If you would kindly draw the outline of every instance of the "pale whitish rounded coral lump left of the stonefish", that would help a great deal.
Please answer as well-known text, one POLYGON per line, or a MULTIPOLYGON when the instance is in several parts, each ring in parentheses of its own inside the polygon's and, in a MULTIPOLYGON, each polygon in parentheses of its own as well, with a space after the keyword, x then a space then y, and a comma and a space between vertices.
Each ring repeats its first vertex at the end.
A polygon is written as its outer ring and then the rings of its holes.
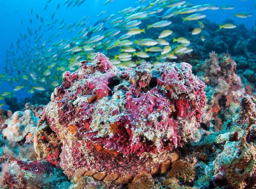
POLYGON ((36 133, 38 119, 31 110, 14 112, 12 117, 4 122, 7 127, 2 133, 9 142, 16 143, 26 139, 26 143, 31 143, 32 136, 36 133))

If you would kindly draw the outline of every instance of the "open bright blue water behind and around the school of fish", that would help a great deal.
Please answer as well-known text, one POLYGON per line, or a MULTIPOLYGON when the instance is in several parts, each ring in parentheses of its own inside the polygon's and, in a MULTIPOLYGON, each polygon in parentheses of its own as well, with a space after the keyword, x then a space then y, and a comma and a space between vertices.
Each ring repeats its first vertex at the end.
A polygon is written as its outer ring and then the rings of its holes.
MULTIPOLYGON (((137 0, 136 0, 137 1, 137 0)), ((38 35, 43 34, 43 38, 48 38, 52 35, 52 33, 55 33, 55 35, 60 31, 58 29, 60 20, 64 19, 65 23, 68 25, 69 23, 73 23, 77 20, 81 20, 86 15, 89 15, 88 21, 90 24, 88 25, 94 25, 99 18, 106 17, 112 13, 117 14, 118 11, 123 10, 127 7, 136 7, 139 5, 145 5, 148 4, 149 1, 143 2, 143 3, 136 3, 134 0, 114 0, 113 2, 102 5, 105 0, 86 0, 84 4, 82 4, 80 7, 74 7, 74 8, 68 8, 66 9, 66 5, 64 0, 52 0, 48 4, 48 8, 46 10, 44 9, 44 6, 47 2, 47 0, 40 0, 40 1, 31 1, 31 0, 12 0, 12 1, 1 1, 0 3, 0 18, 1 18, 1 31, 0 31, 0 73, 4 72, 3 67, 5 66, 6 61, 6 51, 9 49, 10 44, 13 42, 14 47, 16 46, 16 41, 20 35, 20 33, 24 34, 27 33, 27 27, 34 30, 37 29, 39 25, 42 25, 40 22, 40 18, 44 18, 44 26, 42 26, 42 29, 40 32, 38 32, 38 35), (60 4, 60 8, 56 11, 57 5, 60 4), (32 14, 31 9, 33 9, 32 14), (99 14, 101 11, 106 10, 107 13, 104 14, 101 17, 97 17, 96 15, 99 14), (51 15, 53 12, 55 12, 54 19, 58 18, 58 22, 55 24, 57 27, 52 28, 50 31, 47 30, 48 27, 46 27, 47 21, 51 20, 51 15), (36 14, 39 15, 39 20, 36 20, 36 14), (29 22, 32 18, 32 24, 29 22), (21 20, 23 23, 21 24, 21 20)), ((216 22, 216 24, 224 24, 225 20, 232 19, 236 25, 244 24, 245 27, 249 30, 252 30, 253 27, 255 27, 256 24, 256 8, 255 0, 247 0, 247 1, 240 1, 240 0, 191 0, 191 2, 194 2, 195 5, 199 4, 215 4, 215 5, 224 5, 229 4, 235 6, 235 9, 233 10, 206 10, 203 13, 207 15, 206 19, 210 20, 211 22, 216 22), (252 17, 241 19, 233 16, 233 13, 239 13, 239 12, 251 12, 254 15, 252 17)), ((162 12, 161 14, 163 14, 162 12)), ((170 18, 169 20, 172 20, 170 18)), ((182 23, 181 23, 182 24, 182 23)), ((111 28, 110 28, 111 29, 111 28)), ((52 43, 55 41, 58 41, 62 38, 69 38, 72 39, 74 36, 76 36, 76 32, 79 30, 76 30, 75 32, 68 33, 66 30, 63 30, 62 35, 58 38, 52 39, 52 43)), ((22 42, 20 43, 22 46, 22 42)), ((31 46, 34 44, 31 42, 31 46)), ((13 58, 13 57, 12 57, 13 58)), ((12 66, 13 63, 9 63, 7 66, 12 66)), ((16 64, 21 64, 21 62, 17 62, 16 64)), ((22 66, 22 65, 21 65, 22 66)), ((29 75, 29 73, 28 73, 29 75)), ((12 75, 8 75, 11 76, 12 75)), ((16 86, 16 83, 13 85, 10 85, 7 82, 2 82, 1 90, 0 92, 3 93, 4 91, 13 91, 13 88, 16 86)), ((18 83, 17 83, 18 84, 18 83)), ((15 97, 19 99, 25 98, 28 96, 31 96, 31 94, 28 94, 25 91, 15 91, 15 97)), ((3 103, 4 100, 1 100, 0 104, 3 103)), ((8 109, 8 107, 3 106, 4 109, 8 109)))

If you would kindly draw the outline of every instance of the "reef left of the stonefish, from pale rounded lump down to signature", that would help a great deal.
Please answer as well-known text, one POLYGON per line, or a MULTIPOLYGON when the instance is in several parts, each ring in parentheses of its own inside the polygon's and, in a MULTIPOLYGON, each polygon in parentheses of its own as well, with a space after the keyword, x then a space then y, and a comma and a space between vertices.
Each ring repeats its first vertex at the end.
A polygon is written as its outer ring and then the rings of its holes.
POLYGON ((24 112, 15 112, 5 121, 7 127, 0 135, 0 188, 69 187, 68 178, 60 168, 54 166, 54 157, 49 155, 52 159, 48 158, 48 162, 41 160, 34 150, 33 136, 36 133, 38 120, 39 118, 27 109, 24 112))

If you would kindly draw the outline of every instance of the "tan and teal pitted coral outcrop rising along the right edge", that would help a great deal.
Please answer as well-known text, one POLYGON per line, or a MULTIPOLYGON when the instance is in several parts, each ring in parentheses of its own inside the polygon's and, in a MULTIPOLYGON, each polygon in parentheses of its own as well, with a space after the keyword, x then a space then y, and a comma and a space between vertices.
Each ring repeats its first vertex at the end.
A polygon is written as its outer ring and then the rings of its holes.
POLYGON ((235 141, 226 141, 223 151, 213 161, 214 177, 227 180, 233 188, 255 188, 256 99, 244 96, 241 110, 233 121, 232 127, 241 124, 244 130, 235 141))

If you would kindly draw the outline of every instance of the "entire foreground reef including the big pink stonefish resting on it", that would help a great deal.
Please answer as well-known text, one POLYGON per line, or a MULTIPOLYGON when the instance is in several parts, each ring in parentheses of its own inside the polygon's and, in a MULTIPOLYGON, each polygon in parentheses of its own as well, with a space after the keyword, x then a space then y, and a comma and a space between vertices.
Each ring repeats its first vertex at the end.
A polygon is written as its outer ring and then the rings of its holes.
POLYGON ((3 111, 0 187, 254 189, 254 89, 226 53, 196 64, 206 96, 187 63, 81 62, 44 110, 3 111))

